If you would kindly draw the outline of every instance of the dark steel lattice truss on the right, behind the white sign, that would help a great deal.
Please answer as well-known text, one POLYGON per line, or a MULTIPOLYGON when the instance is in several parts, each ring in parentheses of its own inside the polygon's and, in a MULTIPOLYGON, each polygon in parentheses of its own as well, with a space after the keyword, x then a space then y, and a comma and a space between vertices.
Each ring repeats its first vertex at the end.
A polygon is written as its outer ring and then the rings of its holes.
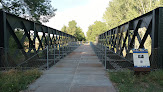
POLYGON ((163 68, 163 7, 108 30, 98 44, 132 61, 132 49, 148 49, 152 68, 163 68))

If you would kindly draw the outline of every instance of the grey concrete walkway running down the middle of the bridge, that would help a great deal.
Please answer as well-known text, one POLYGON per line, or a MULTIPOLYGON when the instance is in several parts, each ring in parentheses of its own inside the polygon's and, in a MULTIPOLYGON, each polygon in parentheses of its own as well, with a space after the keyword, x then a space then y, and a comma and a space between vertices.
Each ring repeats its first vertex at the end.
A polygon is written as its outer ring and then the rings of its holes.
POLYGON ((115 92, 89 45, 78 47, 29 86, 34 92, 115 92))

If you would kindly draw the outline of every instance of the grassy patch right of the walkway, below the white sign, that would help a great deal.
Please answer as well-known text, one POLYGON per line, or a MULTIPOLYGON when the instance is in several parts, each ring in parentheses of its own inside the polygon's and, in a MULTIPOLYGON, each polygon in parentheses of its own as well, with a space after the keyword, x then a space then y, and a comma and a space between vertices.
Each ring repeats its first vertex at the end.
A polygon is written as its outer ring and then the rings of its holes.
POLYGON ((163 92, 163 70, 139 76, 130 70, 109 72, 109 78, 119 92, 163 92))

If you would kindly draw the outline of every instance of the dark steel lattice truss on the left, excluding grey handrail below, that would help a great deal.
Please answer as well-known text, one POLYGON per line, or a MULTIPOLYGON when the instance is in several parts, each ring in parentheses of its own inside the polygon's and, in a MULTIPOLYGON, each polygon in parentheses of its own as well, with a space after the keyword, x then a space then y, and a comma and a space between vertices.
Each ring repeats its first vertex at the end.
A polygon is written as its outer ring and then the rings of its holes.
POLYGON ((0 11, 0 67, 18 66, 33 55, 43 56, 47 46, 58 51, 71 42, 76 42, 72 35, 0 11))

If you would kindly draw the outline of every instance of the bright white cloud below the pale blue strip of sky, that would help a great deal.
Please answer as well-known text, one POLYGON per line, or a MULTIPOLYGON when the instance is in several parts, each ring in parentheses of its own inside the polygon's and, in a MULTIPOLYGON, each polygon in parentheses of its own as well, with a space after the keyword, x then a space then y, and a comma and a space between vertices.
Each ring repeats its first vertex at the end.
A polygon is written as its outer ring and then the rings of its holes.
POLYGON ((89 25, 96 20, 102 21, 103 13, 106 10, 110 0, 89 0, 89 3, 76 8, 69 8, 62 12, 56 12, 56 16, 51 18, 45 25, 61 30, 63 25, 75 20, 77 25, 83 29, 86 34, 89 25))

